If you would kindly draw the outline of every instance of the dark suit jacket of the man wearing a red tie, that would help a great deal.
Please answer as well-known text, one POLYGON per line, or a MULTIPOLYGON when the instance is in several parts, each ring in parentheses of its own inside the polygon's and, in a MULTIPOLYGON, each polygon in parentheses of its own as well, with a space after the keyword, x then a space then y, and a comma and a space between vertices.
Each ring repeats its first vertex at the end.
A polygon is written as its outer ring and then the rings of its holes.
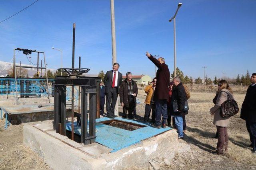
MULTIPOLYGON (((117 93, 119 92, 119 86, 122 83, 122 73, 118 71, 118 77, 117 77, 117 93)), ((113 70, 109 70, 106 72, 103 82, 105 84, 105 93, 110 92, 110 89, 112 88, 112 82, 113 82, 113 70)))

